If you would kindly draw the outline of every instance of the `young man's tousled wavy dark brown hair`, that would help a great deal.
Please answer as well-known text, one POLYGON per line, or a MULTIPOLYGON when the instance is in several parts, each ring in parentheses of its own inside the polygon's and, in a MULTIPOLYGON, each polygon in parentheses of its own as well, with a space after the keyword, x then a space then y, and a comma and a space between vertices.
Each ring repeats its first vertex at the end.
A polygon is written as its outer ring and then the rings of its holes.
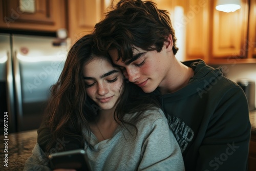
POLYGON ((134 46, 145 51, 160 52, 169 34, 173 38, 173 52, 177 53, 175 31, 166 10, 150 1, 121 0, 95 25, 98 49, 108 52, 117 49, 118 60, 133 57, 134 46))

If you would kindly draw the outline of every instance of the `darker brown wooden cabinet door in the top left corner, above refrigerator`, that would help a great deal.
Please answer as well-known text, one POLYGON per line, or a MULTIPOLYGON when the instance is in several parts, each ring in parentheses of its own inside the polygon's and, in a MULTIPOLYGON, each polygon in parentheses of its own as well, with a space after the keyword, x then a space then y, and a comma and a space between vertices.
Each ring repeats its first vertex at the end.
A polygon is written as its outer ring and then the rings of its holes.
POLYGON ((65 0, 0 0, 0 28, 55 32, 66 28, 65 0))

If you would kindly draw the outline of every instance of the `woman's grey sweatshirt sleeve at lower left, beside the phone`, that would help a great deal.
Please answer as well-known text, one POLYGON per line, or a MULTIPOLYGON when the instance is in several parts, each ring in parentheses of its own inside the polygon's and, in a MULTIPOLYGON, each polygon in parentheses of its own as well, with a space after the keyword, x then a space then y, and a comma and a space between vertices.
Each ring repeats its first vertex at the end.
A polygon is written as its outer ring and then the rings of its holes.
POLYGON ((42 152, 42 149, 39 147, 38 143, 36 143, 34 146, 32 155, 27 159, 24 166, 24 171, 32 170, 51 170, 49 168, 49 159, 45 156, 45 153, 42 152))

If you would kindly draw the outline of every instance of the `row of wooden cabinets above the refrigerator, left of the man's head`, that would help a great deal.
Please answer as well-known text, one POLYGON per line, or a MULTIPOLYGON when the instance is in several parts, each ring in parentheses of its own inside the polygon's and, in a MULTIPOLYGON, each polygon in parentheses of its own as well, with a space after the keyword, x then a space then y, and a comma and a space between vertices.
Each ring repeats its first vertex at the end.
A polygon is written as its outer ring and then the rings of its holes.
POLYGON ((56 32, 65 28, 73 44, 91 33, 111 3, 112 0, 0 0, 0 29, 56 32))

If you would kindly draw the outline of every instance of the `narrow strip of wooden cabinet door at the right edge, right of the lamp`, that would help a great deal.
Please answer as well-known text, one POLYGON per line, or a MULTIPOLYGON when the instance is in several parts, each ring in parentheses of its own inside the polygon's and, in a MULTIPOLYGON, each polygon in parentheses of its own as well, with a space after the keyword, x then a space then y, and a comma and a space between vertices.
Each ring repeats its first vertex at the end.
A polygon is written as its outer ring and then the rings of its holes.
POLYGON ((256 0, 250 1, 249 35, 248 35, 248 59, 256 59, 256 0))

